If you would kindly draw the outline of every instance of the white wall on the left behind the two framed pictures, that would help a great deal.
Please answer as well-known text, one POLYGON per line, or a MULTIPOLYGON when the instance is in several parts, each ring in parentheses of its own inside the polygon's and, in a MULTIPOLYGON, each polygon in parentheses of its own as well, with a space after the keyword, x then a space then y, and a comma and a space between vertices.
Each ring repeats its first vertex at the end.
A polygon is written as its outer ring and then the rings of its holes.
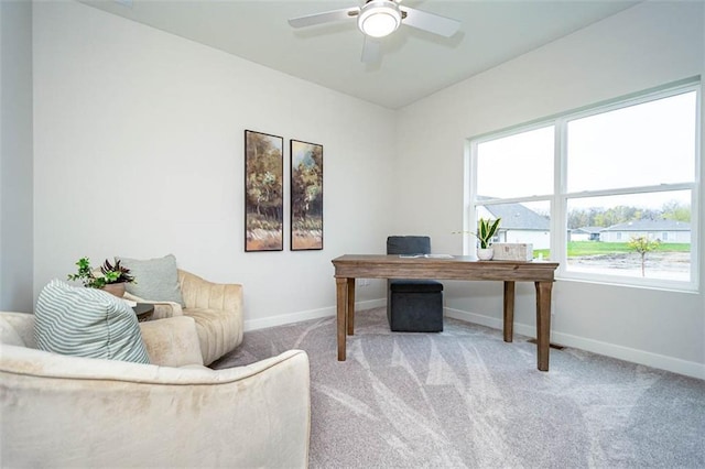
POLYGON ((263 327, 333 315, 330 260, 383 250, 392 111, 73 1, 34 6, 34 101, 35 295, 83 255, 173 253, 263 327), (323 144, 324 250, 245 252, 245 129, 285 139, 286 182, 289 139, 323 144))

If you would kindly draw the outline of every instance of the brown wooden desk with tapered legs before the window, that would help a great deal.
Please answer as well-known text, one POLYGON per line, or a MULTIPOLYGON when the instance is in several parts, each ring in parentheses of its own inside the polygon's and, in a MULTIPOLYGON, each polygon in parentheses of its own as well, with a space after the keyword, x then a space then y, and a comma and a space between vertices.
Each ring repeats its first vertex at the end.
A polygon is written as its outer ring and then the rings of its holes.
POLYGON ((549 371, 551 288, 556 262, 476 261, 400 258, 399 255, 341 255, 333 260, 337 295, 338 361, 346 358, 346 336, 355 331, 355 279, 438 279, 505 282, 505 341, 513 339, 514 282, 536 287, 538 368, 549 371))

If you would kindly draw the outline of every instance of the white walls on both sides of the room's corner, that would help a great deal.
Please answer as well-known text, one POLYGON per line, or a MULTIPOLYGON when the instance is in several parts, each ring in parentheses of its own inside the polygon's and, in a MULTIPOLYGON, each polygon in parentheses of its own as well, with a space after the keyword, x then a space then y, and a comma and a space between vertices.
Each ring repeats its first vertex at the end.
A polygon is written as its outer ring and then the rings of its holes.
MULTIPOLYGON (((37 2, 34 294, 82 255, 173 252, 243 283, 249 327, 333 314, 338 254, 383 252, 390 233, 462 250, 466 139, 702 74, 704 20, 702 3, 640 4, 392 113, 84 4, 37 2), (243 129, 324 145, 324 251, 243 252, 243 129)), ((531 332, 533 302, 520 285, 517 331, 531 332)), ((448 283, 446 306, 499 327, 501 285, 448 283)), ((705 377, 704 308, 703 294, 558 281, 553 339, 705 377)))

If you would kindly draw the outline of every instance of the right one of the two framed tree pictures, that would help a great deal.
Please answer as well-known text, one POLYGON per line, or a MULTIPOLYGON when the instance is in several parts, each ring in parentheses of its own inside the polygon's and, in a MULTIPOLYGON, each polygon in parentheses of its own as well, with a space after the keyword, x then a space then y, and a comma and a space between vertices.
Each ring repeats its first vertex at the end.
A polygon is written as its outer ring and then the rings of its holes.
POLYGON ((291 250, 323 249, 323 145, 290 143, 291 250))

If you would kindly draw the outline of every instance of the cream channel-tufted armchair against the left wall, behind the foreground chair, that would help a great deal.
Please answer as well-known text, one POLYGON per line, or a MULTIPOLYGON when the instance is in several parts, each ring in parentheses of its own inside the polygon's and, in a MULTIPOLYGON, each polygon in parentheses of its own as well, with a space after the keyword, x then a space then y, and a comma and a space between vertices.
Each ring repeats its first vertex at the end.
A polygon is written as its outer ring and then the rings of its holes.
POLYGON ((129 293, 124 297, 154 304, 154 319, 182 315, 193 317, 206 364, 235 350, 242 342, 242 285, 208 282, 181 269, 178 285, 185 308, 177 303, 140 298, 129 293))

